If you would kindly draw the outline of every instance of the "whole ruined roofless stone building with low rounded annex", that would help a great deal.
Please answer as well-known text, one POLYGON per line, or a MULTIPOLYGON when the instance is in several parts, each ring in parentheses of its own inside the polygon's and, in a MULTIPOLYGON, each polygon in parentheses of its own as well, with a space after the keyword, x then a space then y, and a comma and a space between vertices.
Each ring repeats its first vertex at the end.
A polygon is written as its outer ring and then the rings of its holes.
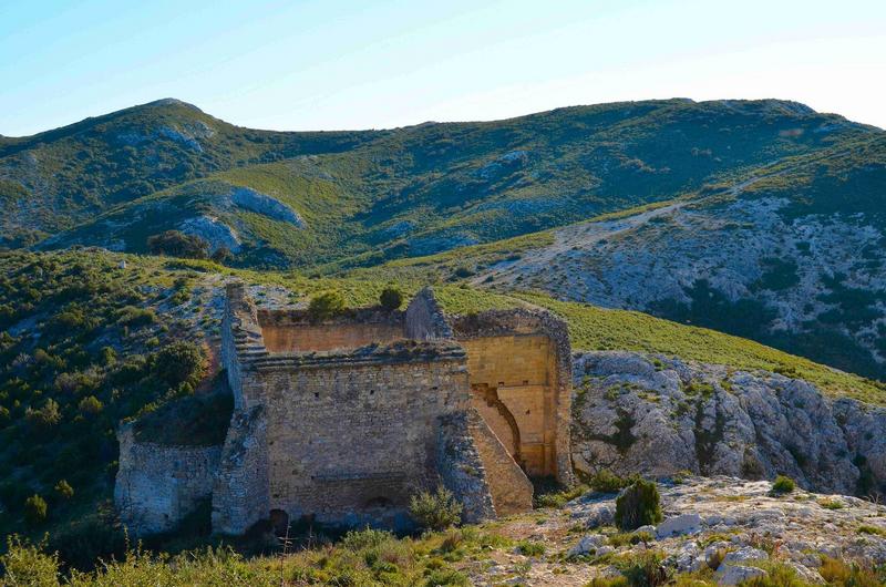
POLYGON ((440 484, 476 522, 529 509, 529 476, 571 481, 569 342, 547 312, 447 316, 424 289, 405 311, 318 323, 257 309, 235 284, 222 339, 235 404, 223 445, 120 431, 115 501, 136 533, 205 500, 225 534, 301 516, 404 527, 410 497, 440 484))

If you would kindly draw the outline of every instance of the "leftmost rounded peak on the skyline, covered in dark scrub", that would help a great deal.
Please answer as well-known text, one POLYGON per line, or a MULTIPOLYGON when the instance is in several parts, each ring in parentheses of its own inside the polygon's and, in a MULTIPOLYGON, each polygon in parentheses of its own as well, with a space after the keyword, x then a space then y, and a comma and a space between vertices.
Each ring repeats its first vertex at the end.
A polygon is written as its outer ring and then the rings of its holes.
POLYGON ((374 134, 253 131, 167 99, 33 136, 2 137, 2 241, 33 244, 114 205, 216 171, 342 151, 374 134))

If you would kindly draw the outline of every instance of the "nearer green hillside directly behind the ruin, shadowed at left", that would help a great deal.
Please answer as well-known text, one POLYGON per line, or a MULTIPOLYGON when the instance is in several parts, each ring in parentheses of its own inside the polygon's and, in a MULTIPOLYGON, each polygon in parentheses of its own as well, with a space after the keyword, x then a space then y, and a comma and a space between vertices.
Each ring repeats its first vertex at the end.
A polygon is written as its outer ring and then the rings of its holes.
MULTIPOLYGON (((224 430, 230 406, 212 392, 226 279, 270 288, 267 297, 259 297, 268 305, 305 303, 318 291, 337 288, 349 305, 365 306, 375 302, 385 285, 97 249, 10 253, 0 256, 0 534, 29 528, 37 537, 51 529, 53 547, 82 564, 96 553, 123 547, 110 506, 114 431, 121 419, 177 406, 162 412, 163 422, 179 416, 188 421, 190 442, 224 430), (183 340, 190 343, 184 351, 174 346, 183 340), (177 350, 171 353, 171 347, 177 350), (187 349, 200 347, 208 363, 194 362, 188 354, 187 349), (169 364, 179 368, 171 370, 169 364), (202 403, 181 403, 183 398, 202 403), (59 493, 62 480, 72 496, 59 493), (22 507, 33 494, 48 500, 49 521, 25 526, 22 507)), ((412 294, 422 285, 404 281, 403 289, 412 294)), ((526 303, 547 307, 568 321, 576 350, 626 349, 779 371, 806 379, 831 397, 886 405, 879 383, 711 330, 544 296, 460 286, 440 286, 437 296, 452 313, 526 303)))

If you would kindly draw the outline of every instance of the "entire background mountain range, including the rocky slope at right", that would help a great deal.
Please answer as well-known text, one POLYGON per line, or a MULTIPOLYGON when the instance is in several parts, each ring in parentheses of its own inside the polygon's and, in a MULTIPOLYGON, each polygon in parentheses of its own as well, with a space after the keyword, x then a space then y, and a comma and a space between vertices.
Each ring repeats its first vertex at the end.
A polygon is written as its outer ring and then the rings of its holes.
POLYGON ((544 291, 886 379, 886 133, 795 102, 275 133, 165 100, 3 138, 0 195, 8 246, 176 229, 235 267, 544 291))

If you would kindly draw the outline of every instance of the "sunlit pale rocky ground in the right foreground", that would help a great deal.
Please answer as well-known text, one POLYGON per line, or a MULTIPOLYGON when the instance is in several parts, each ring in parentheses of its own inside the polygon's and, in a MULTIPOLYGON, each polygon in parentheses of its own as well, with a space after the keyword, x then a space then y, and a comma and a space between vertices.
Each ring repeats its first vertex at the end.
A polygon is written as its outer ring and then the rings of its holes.
POLYGON ((657 527, 618 532, 611 525, 616 495, 589 493, 562 508, 536 509, 492 526, 517 546, 492 549, 465 563, 464 570, 476 585, 586 585, 594 577, 617 576, 627 558, 658 553, 667 573, 696 571, 720 585, 776 565, 821 584, 823 556, 886 563, 882 505, 802 490, 776 494, 766 481, 679 481, 659 484, 664 519, 657 527))

